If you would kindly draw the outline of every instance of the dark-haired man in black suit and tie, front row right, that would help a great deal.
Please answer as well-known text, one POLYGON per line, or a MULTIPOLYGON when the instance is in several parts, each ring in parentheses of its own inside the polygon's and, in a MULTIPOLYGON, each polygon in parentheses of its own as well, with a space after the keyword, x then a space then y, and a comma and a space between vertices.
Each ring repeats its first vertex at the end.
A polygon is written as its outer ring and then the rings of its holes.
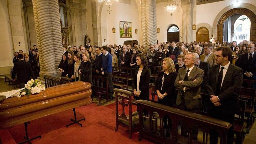
MULTIPOLYGON (((230 47, 216 49, 216 63, 210 68, 205 88, 211 96, 209 114, 229 123, 233 123, 235 113, 240 111, 238 93, 243 83, 243 70, 230 63, 232 51, 230 47)), ((232 144, 234 127, 227 132, 227 143, 232 144)), ((210 131, 210 143, 218 143, 218 132, 210 131)))

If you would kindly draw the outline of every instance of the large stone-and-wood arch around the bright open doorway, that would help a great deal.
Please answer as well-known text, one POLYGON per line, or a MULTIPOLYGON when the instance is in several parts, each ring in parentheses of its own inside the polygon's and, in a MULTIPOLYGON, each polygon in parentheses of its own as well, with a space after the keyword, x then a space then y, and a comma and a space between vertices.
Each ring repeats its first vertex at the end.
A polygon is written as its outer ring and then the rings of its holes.
MULTIPOLYGON (((232 5, 229 5, 227 7, 225 7, 223 10, 221 10, 218 15, 215 17, 214 19, 214 23, 213 23, 213 36, 214 38, 217 38, 218 40, 218 37, 222 37, 222 35, 219 35, 217 37, 217 29, 218 29, 218 23, 221 19, 225 19, 227 18, 227 15, 234 15, 234 14, 237 14, 237 13, 244 13, 246 16, 248 16, 249 18, 250 17, 253 17, 253 15, 255 16, 256 15, 256 7, 250 3, 241 3, 240 5, 238 6, 234 6, 233 4, 232 5), (230 11, 232 10, 232 11, 230 11), (247 10, 247 12, 246 12, 247 10), (237 12, 238 11, 238 12, 237 12), (240 11, 240 12, 239 12, 240 11), (248 15, 248 12, 250 12, 248 15)), ((256 33, 256 28, 254 29, 252 26, 253 24, 256 26, 256 22, 255 22, 255 19, 250 19, 251 20, 251 32, 255 32, 256 33)), ((223 22, 224 22, 223 21, 223 22)), ((223 23, 222 23, 223 24, 223 23)), ((220 30, 219 30, 220 31, 220 30)), ((254 35, 251 35, 250 36, 250 40, 256 40, 256 34, 254 35)), ((221 40, 219 40, 222 42, 222 38, 221 40)))

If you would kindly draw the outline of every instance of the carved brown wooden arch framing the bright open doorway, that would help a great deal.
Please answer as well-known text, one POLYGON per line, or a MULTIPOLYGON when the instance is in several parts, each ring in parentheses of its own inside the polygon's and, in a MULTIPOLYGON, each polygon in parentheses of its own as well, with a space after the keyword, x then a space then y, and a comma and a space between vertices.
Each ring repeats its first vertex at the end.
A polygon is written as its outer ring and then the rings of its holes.
POLYGON ((217 41, 222 43, 223 40, 223 24, 225 20, 235 14, 243 14, 246 15, 251 21, 251 29, 250 29, 250 41, 256 41, 256 15, 246 8, 233 8, 224 13, 217 25, 217 41))

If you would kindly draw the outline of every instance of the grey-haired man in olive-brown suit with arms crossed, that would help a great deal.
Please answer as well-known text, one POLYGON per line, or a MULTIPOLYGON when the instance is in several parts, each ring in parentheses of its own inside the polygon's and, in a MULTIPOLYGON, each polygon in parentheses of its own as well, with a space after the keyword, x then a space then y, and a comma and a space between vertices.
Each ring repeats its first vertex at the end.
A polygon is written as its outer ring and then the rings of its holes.
MULTIPOLYGON (((176 104, 179 109, 199 113, 202 107, 202 98, 200 95, 201 83, 204 77, 204 71, 196 67, 196 56, 194 53, 187 53, 184 64, 178 71, 175 80, 175 87, 179 89, 176 104)), ((186 124, 181 123, 181 135, 188 136, 186 124)), ((191 138, 197 140, 198 126, 192 128, 191 138)))

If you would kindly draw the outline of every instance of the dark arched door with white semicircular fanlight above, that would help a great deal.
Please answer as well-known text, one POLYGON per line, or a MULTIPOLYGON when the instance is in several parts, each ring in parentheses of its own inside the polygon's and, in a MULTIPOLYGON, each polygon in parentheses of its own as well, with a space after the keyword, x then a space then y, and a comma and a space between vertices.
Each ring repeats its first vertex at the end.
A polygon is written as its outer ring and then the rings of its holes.
POLYGON ((179 42, 179 28, 177 25, 172 24, 167 29, 167 41, 172 42, 179 42))

